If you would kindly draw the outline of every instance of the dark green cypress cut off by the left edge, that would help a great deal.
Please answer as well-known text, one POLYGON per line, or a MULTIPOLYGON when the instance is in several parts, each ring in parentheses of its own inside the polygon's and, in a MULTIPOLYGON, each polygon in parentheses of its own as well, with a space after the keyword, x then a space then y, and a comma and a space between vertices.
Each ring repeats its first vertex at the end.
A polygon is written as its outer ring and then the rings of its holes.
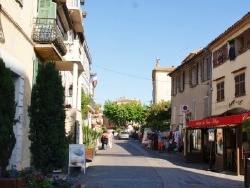
POLYGON ((15 118, 15 86, 10 69, 0 58, 0 168, 6 173, 16 138, 13 132, 15 118))

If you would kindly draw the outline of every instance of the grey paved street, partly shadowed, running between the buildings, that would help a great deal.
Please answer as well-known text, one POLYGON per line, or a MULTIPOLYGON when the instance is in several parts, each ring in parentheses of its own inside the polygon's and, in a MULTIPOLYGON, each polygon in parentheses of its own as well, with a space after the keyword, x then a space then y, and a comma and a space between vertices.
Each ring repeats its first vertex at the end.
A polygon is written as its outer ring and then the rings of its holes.
POLYGON ((99 150, 79 181, 86 188, 240 188, 244 177, 204 170, 177 154, 159 154, 137 140, 99 150))

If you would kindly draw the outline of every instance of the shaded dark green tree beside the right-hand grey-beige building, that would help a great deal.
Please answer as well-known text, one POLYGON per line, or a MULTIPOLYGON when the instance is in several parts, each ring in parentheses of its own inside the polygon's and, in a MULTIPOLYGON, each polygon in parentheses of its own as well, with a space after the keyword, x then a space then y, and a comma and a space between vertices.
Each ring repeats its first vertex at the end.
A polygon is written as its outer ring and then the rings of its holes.
POLYGON ((171 103, 170 101, 161 101, 152 104, 147 110, 145 127, 155 130, 166 130, 170 126, 171 103))

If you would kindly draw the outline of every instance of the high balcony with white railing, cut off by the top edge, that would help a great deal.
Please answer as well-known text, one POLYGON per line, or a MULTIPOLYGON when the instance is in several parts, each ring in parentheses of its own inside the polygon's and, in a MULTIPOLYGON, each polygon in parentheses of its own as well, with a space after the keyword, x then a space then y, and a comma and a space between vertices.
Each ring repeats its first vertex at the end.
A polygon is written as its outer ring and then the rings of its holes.
POLYGON ((84 4, 82 0, 67 0, 67 7, 69 9, 70 18, 72 20, 73 29, 75 32, 83 33, 82 24, 82 10, 81 5, 84 4))

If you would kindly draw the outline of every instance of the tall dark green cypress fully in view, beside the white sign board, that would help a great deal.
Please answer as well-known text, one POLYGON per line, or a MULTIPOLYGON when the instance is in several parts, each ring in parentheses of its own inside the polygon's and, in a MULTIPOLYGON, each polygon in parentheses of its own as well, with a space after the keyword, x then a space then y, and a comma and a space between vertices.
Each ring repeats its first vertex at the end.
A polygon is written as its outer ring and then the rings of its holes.
POLYGON ((31 93, 29 139, 32 164, 44 174, 61 169, 67 160, 64 88, 53 62, 39 67, 31 93))

